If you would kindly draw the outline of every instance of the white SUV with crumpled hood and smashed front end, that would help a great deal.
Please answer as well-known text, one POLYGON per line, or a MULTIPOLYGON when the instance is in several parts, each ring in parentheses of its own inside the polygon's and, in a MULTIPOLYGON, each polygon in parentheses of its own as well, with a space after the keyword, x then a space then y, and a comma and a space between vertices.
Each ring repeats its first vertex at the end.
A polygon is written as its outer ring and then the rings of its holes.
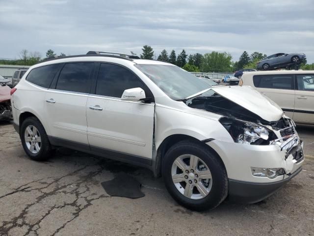
POLYGON ((291 119, 250 87, 209 86, 170 63, 110 55, 51 59, 11 90, 33 160, 63 146, 151 169, 183 206, 255 203, 302 169, 291 119))

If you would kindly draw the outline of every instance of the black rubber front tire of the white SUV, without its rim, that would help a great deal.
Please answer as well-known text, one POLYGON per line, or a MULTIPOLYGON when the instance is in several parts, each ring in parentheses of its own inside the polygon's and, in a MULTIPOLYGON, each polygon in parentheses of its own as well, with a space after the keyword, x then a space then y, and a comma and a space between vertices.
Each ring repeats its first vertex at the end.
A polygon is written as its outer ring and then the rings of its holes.
POLYGON ((204 211, 217 207, 228 195, 228 177, 221 159, 204 144, 192 141, 181 141, 169 148, 162 162, 162 176, 170 195, 183 207, 191 210, 204 211), (191 154, 199 157, 209 167, 212 176, 212 185, 209 194, 202 199, 185 197, 176 188, 171 169, 177 157, 191 154))

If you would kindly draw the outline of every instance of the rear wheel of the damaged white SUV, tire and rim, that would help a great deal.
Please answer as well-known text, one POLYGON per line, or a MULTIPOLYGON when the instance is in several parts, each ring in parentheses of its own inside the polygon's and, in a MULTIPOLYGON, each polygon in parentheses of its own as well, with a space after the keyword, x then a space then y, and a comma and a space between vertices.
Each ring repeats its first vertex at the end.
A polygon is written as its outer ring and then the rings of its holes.
POLYGON ((51 157, 51 144, 39 119, 26 118, 21 125, 20 137, 26 154, 32 160, 45 161, 51 157))

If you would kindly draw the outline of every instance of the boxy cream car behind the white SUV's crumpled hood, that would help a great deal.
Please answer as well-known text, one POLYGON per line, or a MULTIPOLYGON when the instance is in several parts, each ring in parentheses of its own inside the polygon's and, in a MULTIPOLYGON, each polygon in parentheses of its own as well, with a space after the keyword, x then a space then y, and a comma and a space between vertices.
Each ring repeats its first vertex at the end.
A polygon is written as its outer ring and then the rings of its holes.
POLYGON ((277 103, 296 123, 314 124, 314 71, 257 71, 243 74, 248 85, 277 103))

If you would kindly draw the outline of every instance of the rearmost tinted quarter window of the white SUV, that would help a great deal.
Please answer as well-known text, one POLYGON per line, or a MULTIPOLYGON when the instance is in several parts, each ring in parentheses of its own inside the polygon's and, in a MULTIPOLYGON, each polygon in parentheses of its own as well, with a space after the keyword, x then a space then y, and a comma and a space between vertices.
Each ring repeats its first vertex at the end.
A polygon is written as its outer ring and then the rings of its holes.
POLYGON ((26 80, 43 88, 49 88, 55 74, 62 64, 45 65, 32 69, 26 80))

